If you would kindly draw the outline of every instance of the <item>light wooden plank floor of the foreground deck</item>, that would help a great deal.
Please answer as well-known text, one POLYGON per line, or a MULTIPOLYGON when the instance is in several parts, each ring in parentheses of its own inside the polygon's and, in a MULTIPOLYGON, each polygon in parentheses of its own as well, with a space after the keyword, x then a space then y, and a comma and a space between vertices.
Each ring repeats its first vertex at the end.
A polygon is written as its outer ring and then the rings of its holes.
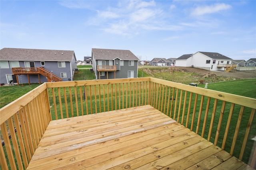
POLYGON ((30 169, 253 169, 152 106, 51 121, 30 169))

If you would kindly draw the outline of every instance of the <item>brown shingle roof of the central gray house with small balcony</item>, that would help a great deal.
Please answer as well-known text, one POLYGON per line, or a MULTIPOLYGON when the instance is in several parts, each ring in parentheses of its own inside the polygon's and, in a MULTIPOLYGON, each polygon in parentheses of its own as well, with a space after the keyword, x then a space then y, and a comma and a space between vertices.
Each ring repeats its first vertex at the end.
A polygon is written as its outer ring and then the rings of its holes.
POLYGON ((92 54, 96 60, 139 60, 130 50, 92 49, 92 54))

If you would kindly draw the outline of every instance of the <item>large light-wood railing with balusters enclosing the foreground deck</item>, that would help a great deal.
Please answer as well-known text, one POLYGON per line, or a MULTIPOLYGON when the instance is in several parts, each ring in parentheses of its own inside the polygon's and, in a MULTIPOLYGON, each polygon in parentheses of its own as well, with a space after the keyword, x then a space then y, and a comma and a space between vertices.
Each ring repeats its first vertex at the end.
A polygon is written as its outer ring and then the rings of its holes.
POLYGON ((148 104, 255 167, 256 99, 129 78, 48 82, 0 109, 1 168, 26 168, 50 120, 148 104))

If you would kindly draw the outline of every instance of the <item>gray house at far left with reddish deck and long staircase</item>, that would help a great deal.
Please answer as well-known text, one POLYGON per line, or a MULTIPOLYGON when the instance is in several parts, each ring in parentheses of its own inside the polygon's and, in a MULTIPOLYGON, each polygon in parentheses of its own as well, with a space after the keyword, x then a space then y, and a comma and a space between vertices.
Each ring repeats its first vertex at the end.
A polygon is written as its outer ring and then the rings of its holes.
POLYGON ((3 48, 0 55, 1 84, 72 81, 76 70, 74 51, 3 48))

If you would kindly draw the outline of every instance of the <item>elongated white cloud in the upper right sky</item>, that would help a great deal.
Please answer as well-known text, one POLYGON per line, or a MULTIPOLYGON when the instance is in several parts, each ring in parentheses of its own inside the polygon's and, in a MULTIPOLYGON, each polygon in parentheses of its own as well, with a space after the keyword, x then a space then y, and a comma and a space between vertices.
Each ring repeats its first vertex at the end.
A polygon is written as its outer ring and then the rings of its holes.
POLYGON ((198 6, 197 8, 195 8, 191 15, 192 16, 202 16, 204 14, 212 14, 212 13, 217 13, 223 10, 228 10, 232 8, 232 6, 228 5, 228 4, 214 4, 211 6, 198 6))

